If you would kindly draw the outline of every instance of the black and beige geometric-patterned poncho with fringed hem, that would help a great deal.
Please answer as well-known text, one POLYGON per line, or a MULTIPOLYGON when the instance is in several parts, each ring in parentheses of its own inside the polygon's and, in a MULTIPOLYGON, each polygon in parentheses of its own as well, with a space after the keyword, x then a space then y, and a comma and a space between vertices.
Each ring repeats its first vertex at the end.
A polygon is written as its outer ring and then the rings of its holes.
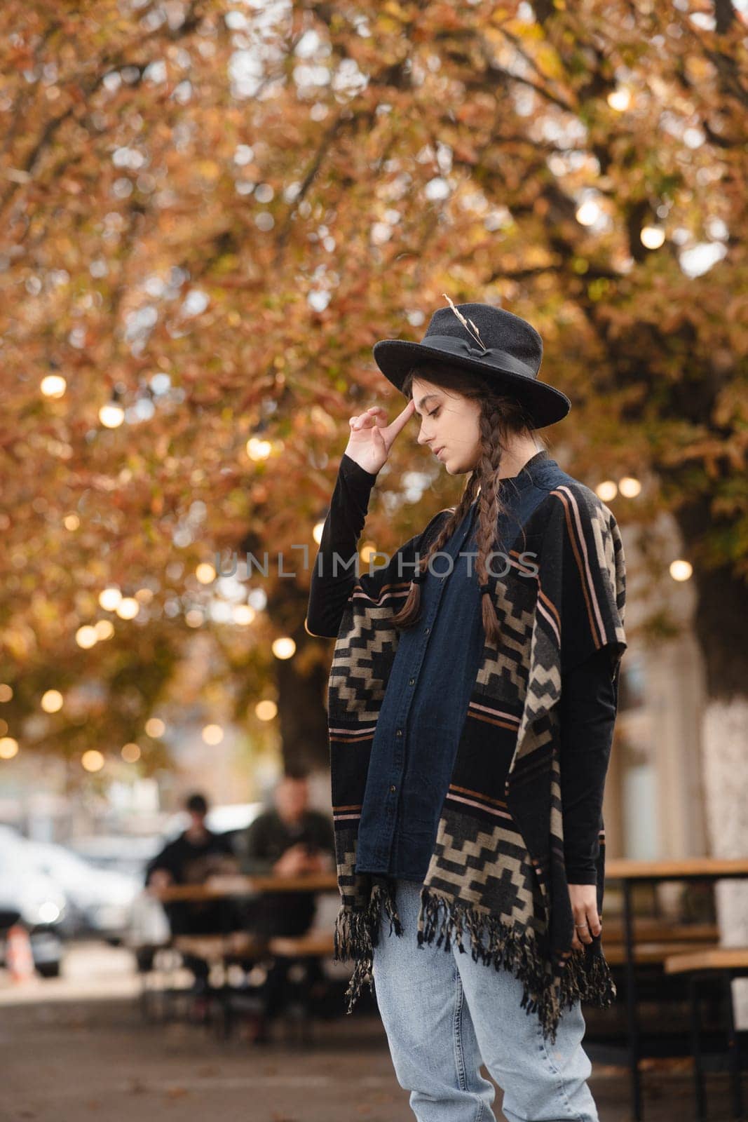
MULTIPOLYGON (((351 1012, 372 985, 372 947, 384 916, 401 935, 394 884, 357 873, 357 837, 377 718, 398 643, 391 617, 418 558, 450 511, 373 572, 357 576, 335 640, 327 719, 338 883, 335 959, 353 960, 351 1012)), ((626 650, 626 576, 618 524, 594 491, 564 473, 510 548, 489 564, 501 641, 484 641, 462 725, 428 871, 418 945, 468 940, 473 960, 510 971, 521 1005, 555 1040, 564 1006, 600 1006, 616 990, 600 938, 571 950, 574 919, 564 866, 558 699, 562 674, 600 647, 618 677, 626 650)), ((459 652, 455 652, 459 656, 459 652)), ((602 912, 604 833, 597 895, 602 912)))

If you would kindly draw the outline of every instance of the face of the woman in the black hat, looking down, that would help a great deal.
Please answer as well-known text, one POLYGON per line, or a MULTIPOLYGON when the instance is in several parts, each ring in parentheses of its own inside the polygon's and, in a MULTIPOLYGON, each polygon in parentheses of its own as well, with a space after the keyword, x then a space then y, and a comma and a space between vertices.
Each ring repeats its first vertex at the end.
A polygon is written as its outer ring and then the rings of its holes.
POLYGON ((410 389, 421 417, 418 443, 427 444, 451 476, 472 471, 480 452, 480 405, 455 390, 414 378, 410 389))

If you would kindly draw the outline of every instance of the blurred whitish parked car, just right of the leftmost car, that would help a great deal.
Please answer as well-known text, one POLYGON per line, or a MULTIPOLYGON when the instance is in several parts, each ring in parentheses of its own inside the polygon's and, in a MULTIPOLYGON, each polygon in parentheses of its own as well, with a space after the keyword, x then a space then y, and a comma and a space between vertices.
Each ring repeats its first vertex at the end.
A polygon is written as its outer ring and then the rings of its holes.
POLYGON ((28 845, 31 859, 66 896, 70 932, 120 942, 130 923, 141 877, 98 868, 62 845, 43 842, 29 842, 28 845))

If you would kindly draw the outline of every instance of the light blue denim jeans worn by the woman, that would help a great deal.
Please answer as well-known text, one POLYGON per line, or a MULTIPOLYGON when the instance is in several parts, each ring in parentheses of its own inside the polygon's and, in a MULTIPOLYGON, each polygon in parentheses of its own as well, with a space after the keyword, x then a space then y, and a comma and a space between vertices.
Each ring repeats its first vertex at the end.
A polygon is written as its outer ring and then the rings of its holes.
POLYGON ((390 934, 382 913, 372 968, 395 1074, 418 1122, 496 1122, 481 1063, 504 1091, 508 1122, 598 1122, 580 1003, 563 1010, 555 1045, 545 1041, 504 967, 474 963, 454 944, 418 947, 421 888, 396 882, 403 934, 390 934))

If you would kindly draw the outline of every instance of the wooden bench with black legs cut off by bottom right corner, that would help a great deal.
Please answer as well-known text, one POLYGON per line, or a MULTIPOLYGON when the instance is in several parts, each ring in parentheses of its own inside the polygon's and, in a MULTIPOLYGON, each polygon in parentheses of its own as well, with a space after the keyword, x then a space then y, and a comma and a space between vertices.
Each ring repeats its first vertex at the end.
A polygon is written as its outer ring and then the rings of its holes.
POLYGON ((740 1086, 740 1047, 735 1027, 732 1009, 732 978, 748 975, 748 947, 711 947, 671 955, 665 960, 667 974, 683 974, 689 980, 691 999, 691 1041, 693 1046, 694 1087, 696 1095, 696 1113, 699 1122, 707 1118, 707 1100, 704 1094, 704 1067, 701 1050, 701 1024, 699 1010, 698 983, 718 975, 721 978, 727 1012, 728 1065, 730 1069, 730 1098, 732 1116, 742 1119, 742 1089, 740 1086))

